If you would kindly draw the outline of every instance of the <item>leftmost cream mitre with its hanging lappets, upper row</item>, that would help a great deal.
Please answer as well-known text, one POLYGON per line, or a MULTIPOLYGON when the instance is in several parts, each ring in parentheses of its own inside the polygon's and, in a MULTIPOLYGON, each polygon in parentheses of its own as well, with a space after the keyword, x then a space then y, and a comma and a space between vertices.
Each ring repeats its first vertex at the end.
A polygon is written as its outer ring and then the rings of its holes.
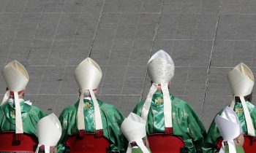
POLYGON ((4 99, 1 103, 4 104, 10 97, 10 93, 14 95, 15 101, 15 133, 17 134, 16 140, 20 140, 20 135, 23 133, 23 124, 21 119, 20 102, 18 98, 18 92, 24 90, 29 82, 29 74, 26 68, 17 60, 13 60, 4 66, 1 74, 4 81, 7 84, 8 91, 4 95, 4 99))

